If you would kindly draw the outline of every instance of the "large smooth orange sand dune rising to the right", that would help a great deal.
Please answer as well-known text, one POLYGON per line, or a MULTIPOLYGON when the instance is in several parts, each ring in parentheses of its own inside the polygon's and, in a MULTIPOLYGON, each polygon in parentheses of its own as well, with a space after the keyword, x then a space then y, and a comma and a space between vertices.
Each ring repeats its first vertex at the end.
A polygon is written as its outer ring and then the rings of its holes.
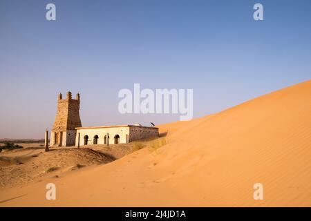
POLYGON ((156 151, 1 190, 0 206, 311 206, 311 81, 160 129, 156 151))

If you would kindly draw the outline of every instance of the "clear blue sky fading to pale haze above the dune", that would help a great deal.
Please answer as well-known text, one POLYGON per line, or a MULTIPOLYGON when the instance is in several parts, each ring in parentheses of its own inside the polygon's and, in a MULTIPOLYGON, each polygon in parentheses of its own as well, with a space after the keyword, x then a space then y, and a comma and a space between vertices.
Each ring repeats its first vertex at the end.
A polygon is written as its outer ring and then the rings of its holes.
POLYGON ((0 138, 44 137, 67 90, 81 94, 82 126, 161 124, 179 115, 121 115, 118 91, 193 88, 200 117, 311 79, 310 11, 309 0, 1 0, 0 138))

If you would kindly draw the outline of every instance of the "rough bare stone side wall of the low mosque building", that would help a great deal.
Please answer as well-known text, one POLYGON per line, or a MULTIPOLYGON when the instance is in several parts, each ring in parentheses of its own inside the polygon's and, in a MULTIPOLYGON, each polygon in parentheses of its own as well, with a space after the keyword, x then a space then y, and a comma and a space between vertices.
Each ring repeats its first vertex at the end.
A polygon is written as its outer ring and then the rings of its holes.
POLYGON ((129 142, 159 135, 159 128, 149 126, 130 126, 129 142))

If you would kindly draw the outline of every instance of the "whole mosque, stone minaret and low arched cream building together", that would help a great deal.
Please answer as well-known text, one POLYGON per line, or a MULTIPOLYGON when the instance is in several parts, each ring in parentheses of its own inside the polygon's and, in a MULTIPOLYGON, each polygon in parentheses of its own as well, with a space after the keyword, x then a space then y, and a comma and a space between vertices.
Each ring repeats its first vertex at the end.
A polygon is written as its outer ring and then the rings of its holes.
POLYGON ((82 127, 79 116, 80 95, 75 99, 68 91, 66 99, 59 93, 57 114, 50 135, 50 146, 80 146, 90 144, 127 144, 134 140, 159 135, 155 126, 122 124, 82 127))

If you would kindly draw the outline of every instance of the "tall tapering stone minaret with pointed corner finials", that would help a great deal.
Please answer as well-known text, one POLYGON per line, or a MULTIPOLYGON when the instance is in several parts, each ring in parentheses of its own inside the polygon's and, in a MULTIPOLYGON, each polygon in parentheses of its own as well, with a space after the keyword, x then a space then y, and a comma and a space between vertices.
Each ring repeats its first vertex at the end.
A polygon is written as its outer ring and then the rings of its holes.
POLYGON ((62 94, 58 95, 57 114, 50 134, 50 146, 75 146, 76 127, 80 127, 79 116, 80 95, 77 93, 72 99, 68 91, 66 99, 62 94))

